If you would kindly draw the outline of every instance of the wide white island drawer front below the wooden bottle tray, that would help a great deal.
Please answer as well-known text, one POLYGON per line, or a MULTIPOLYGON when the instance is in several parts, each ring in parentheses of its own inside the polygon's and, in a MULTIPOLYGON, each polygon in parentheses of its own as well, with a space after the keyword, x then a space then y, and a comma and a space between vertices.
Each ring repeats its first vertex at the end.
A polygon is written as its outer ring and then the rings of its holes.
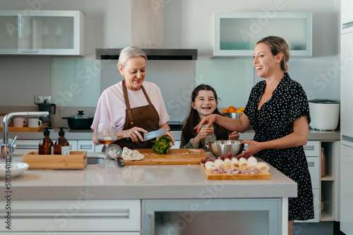
MULTIPOLYGON (((11 201, 11 231, 135 231, 141 230, 139 200, 90 200, 83 191, 78 200, 11 201)), ((0 201, 5 217, 6 201, 0 201)), ((1 231, 8 231, 5 226, 1 231)))

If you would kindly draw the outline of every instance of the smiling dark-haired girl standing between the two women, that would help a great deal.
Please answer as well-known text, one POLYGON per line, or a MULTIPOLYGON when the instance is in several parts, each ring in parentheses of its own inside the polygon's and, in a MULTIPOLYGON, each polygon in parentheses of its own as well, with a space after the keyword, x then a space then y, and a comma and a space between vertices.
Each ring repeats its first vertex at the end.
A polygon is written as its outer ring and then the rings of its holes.
POLYGON ((238 132, 229 131, 220 125, 214 124, 211 127, 204 125, 200 132, 196 127, 200 120, 210 114, 220 114, 217 108, 218 98, 215 89, 209 85, 201 84, 191 94, 191 108, 181 131, 180 148, 208 148, 210 141, 233 139, 238 140, 238 132))

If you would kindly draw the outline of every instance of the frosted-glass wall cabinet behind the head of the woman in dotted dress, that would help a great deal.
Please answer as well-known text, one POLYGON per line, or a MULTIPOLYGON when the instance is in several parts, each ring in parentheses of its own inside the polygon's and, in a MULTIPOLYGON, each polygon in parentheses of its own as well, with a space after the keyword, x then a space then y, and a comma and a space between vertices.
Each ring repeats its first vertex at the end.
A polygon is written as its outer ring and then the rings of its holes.
POLYGON ((312 55, 311 13, 213 13, 213 57, 253 56, 256 42, 267 36, 284 38, 291 56, 312 55))

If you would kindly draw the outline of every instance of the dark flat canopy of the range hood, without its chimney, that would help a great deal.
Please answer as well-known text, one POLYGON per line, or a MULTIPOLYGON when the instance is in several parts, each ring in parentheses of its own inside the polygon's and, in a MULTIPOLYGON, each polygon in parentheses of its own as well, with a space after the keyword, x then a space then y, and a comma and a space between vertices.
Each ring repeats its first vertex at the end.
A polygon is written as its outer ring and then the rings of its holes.
MULTIPOLYGON (((197 49, 142 49, 148 60, 196 61, 197 49)), ((97 60, 118 60, 121 49, 95 49, 97 60)))

